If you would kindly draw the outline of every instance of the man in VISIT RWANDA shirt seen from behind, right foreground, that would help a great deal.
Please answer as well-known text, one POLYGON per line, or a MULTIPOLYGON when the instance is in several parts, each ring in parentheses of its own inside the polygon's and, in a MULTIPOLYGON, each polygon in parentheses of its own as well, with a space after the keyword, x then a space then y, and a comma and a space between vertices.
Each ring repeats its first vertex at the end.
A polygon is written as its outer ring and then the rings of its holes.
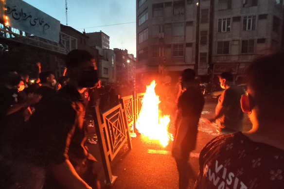
POLYGON ((199 156, 196 189, 282 189, 284 187, 284 52, 255 60, 246 71, 247 133, 221 135, 199 156))

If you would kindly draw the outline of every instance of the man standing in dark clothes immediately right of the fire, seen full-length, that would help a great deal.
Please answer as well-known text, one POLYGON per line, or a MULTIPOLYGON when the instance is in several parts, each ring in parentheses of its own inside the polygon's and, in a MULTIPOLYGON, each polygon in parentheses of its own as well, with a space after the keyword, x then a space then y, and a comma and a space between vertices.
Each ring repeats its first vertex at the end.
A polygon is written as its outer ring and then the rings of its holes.
POLYGON ((195 71, 185 69, 181 75, 181 87, 185 90, 178 98, 176 134, 172 155, 177 162, 179 189, 187 189, 189 180, 196 175, 189 164, 189 154, 195 149, 198 121, 204 106, 204 97, 195 83, 195 71))

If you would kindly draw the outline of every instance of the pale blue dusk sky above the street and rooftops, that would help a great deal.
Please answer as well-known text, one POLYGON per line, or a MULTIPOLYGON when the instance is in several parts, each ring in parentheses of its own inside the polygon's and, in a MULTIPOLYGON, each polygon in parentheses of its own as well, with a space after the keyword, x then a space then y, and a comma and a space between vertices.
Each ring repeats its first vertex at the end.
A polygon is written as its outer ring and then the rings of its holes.
MULTIPOLYGON (((66 25, 65 0, 24 1, 66 25)), ((110 49, 127 49, 136 57, 136 0, 67 0, 67 6, 68 26, 86 33, 101 30, 110 37, 110 49)))

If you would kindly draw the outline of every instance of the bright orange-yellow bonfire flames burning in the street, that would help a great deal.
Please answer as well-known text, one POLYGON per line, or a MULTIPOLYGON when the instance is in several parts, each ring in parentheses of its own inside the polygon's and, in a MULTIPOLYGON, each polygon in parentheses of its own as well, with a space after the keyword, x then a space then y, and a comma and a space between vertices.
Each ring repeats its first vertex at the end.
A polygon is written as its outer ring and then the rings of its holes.
POLYGON ((146 93, 142 99, 142 108, 137 119, 136 128, 144 137, 157 139, 165 147, 169 143, 167 126, 170 122, 169 116, 159 115, 159 96, 155 93, 155 80, 147 86, 146 93))

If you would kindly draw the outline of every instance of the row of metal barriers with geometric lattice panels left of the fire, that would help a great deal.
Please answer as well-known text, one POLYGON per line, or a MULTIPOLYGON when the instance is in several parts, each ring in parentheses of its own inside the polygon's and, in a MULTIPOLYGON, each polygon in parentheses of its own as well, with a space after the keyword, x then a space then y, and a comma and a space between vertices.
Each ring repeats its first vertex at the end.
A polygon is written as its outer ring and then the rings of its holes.
POLYGON ((99 107, 95 106, 96 112, 93 118, 98 123, 95 124, 95 128, 108 186, 111 186, 117 178, 111 173, 110 161, 114 159, 126 141, 129 150, 132 149, 129 127, 133 124, 135 129, 144 94, 134 92, 133 95, 123 97, 120 104, 102 115, 99 112, 99 107))

